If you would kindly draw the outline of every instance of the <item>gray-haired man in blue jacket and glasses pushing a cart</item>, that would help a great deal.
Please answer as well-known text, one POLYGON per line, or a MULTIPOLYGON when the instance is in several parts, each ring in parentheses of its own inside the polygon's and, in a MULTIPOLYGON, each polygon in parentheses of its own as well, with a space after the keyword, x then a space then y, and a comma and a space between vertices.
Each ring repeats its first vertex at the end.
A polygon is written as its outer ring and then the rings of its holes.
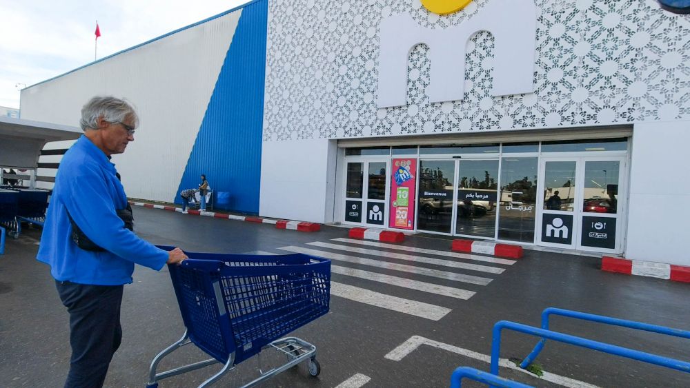
POLYGON ((72 357, 65 387, 102 387, 120 345, 123 286, 135 263, 159 270, 187 258, 142 240, 112 154, 134 141, 134 108, 110 96, 93 97, 81 109, 83 136, 65 153, 43 227, 37 259, 51 267, 70 314, 72 357))

